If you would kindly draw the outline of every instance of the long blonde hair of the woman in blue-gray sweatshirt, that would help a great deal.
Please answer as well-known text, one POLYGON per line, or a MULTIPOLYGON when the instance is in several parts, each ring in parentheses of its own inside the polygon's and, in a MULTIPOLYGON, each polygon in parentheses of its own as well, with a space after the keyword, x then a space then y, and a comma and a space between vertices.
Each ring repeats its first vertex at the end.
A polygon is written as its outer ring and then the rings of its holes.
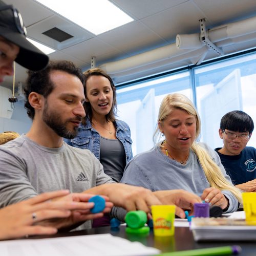
MULTIPOLYGON (((196 138, 191 145, 191 150, 197 155, 210 186, 219 188, 220 190, 231 191, 231 193, 236 196, 238 201, 242 203, 241 190, 234 187, 225 179, 219 166, 211 159, 210 155, 205 151, 205 149, 196 142, 200 135, 200 117, 193 103, 185 95, 179 93, 166 95, 160 105, 158 120, 161 122, 164 121, 174 109, 184 110, 196 118, 196 138)), ((161 132, 157 125, 157 129, 154 134, 155 143, 159 141, 160 136, 161 132)))

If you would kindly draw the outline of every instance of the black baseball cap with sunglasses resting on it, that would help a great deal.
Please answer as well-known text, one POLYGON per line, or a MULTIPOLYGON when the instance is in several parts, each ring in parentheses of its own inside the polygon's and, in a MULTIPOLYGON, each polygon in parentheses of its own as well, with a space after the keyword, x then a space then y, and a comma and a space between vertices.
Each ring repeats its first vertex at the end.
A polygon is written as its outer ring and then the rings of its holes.
POLYGON ((44 69, 49 57, 26 39, 26 27, 22 16, 12 5, 6 5, 0 0, 0 36, 19 47, 15 61, 29 70, 44 69))

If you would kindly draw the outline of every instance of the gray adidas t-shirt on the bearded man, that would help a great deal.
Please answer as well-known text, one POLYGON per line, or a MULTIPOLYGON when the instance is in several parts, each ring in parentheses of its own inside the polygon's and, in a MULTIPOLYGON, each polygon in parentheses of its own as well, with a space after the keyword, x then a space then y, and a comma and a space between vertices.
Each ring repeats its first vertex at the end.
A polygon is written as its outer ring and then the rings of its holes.
MULTIPOLYGON (((80 193, 111 182, 94 154, 65 142, 59 148, 49 148, 22 135, 0 146, 0 207, 47 191, 80 193)), ((90 221, 82 225, 90 227, 90 221)))

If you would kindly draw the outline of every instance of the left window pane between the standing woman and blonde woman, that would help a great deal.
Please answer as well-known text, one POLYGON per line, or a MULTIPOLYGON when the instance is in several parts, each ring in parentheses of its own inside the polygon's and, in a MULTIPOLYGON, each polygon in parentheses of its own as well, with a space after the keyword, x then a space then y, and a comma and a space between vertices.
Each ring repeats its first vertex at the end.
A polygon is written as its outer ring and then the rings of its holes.
POLYGON ((188 71, 117 88, 118 119, 130 126, 134 155, 154 146, 160 103, 166 94, 175 92, 192 98, 188 71))

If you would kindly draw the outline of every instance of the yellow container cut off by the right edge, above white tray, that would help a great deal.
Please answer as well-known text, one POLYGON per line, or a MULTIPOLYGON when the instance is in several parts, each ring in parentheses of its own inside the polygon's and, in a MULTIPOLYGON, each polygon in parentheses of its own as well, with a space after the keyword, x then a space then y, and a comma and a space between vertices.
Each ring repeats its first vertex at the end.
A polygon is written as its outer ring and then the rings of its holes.
POLYGON ((244 192, 242 193, 242 197, 245 220, 256 223, 256 192, 244 192))

